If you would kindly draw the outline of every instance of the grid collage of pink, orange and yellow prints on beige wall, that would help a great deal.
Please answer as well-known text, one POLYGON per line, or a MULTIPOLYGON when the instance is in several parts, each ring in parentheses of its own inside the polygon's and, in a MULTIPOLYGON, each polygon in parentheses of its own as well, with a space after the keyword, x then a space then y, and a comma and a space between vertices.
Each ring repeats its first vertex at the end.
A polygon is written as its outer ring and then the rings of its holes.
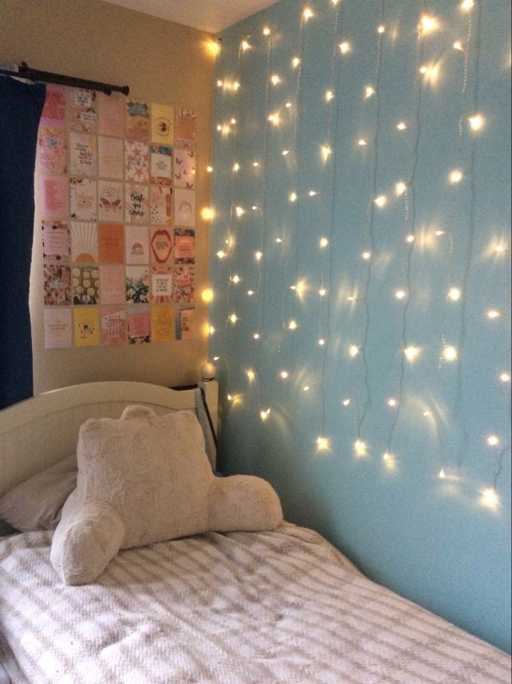
POLYGON ((49 85, 38 131, 45 348, 193 336, 195 140, 186 108, 49 85), (188 312, 188 313, 187 313, 188 312))

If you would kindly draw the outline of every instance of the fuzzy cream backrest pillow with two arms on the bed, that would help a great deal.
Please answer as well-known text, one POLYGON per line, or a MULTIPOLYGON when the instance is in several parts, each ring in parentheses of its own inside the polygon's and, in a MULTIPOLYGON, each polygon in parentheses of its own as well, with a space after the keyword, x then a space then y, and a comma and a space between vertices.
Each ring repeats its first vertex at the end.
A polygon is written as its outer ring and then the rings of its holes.
POLYGON ((67 585, 93 582, 120 548, 202 532, 272 530, 278 495, 249 475, 216 478, 196 416, 128 407, 79 432, 75 489, 63 507, 51 562, 67 585))

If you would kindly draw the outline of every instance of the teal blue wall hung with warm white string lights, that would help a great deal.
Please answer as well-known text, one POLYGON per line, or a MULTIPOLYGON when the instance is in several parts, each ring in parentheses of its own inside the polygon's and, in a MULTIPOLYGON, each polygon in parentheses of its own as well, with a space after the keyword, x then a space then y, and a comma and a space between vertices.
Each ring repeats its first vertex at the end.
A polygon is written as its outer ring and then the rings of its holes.
POLYGON ((220 466, 268 478, 289 521, 509 650, 510 3, 311 0, 309 19, 304 7, 282 0, 221 36, 220 466), (433 31, 418 29, 422 14, 433 31))

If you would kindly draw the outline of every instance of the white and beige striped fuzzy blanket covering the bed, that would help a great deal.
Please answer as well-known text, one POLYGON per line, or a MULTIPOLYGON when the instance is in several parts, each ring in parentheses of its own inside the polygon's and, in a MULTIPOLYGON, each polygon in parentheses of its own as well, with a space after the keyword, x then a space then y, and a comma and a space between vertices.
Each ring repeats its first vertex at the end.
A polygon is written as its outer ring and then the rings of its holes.
POLYGON ((122 551, 85 587, 60 583, 50 544, 49 532, 0 542, 0 630, 34 684, 511 681, 505 653, 305 528, 122 551))

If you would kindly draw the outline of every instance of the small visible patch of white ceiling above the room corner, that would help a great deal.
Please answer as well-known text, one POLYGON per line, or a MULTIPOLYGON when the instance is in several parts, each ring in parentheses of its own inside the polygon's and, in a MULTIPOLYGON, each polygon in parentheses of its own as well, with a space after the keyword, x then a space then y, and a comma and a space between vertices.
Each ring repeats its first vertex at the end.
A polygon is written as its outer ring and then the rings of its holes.
POLYGON ((114 5, 219 33, 278 0, 106 0, 114 5))

